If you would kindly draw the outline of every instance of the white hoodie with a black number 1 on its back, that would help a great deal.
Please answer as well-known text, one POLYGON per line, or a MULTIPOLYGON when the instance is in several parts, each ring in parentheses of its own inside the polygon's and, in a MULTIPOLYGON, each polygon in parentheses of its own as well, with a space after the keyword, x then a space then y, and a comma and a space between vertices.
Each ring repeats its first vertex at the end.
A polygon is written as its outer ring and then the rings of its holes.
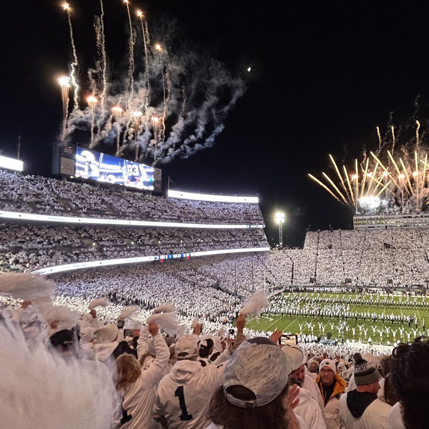
POLYGON ((182 360, 160 382, 154 418, 165 418, 169 429, 204 429, 211 396, 222 385, 224 365, 208 365, 182 360))

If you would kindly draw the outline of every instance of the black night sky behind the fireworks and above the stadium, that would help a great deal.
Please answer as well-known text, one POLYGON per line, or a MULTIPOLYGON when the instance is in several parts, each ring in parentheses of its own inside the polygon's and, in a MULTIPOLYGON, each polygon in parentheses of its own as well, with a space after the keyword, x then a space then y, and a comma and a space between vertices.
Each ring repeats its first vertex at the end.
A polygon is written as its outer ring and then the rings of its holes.
MULTIPOLYGON (((88 66, 99 3, 70 4, 88 66)), ((121 0, 104 5, 107 52, 119 67, 126 8, 121 0)), ((259 193, 269 237, 275 211, 286 213, 286 243, 302 240, 309 224, 348 228, 352 221, 307 173, 329 170, 328 153, 350 164, 364 144, 377 145, 375 127, 385 130, 391 111, 400 123, 413 115, 417 95, 427 104, 427 2, 130 0, 130 7, 151 23, 176 19, 184 38, 237 73, 252 67, 215 146, 163 171, 172 188, 259 193)), ((0 149, 15 155, 20 134, 27 170, 48 174, 61 121, 55 79, 71 58, 66 15, 58 1, 1 2, 0 14, 0 149)))

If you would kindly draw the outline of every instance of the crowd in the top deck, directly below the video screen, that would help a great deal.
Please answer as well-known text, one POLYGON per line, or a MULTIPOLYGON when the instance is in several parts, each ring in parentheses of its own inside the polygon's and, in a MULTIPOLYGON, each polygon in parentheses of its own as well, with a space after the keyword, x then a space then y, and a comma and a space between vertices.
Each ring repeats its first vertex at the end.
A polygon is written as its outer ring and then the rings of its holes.
POLYGON ((95 187, 2 169, 0 194, 0 210, 25 213, 187 223, 263 223, 257 204, 164 198, 121 187, 95 187))

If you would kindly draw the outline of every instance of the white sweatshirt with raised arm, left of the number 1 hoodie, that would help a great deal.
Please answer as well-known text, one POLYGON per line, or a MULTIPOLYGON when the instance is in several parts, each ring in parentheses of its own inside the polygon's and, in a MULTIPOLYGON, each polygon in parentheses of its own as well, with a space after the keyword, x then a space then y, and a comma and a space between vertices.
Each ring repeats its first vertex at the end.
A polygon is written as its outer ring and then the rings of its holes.
POLYGON ((157 429, 159 425, 152 417, 152 408, 155 402, 157 386, 163 377, 164 370, 170 357, 170 351, 162 335, 153 339, 156 349, 155 360, 148 368, 142 369, 142 374, 135 383, 120 392, 124 401, 122 408, 128 416, 132 416, 121 429, 157 429))

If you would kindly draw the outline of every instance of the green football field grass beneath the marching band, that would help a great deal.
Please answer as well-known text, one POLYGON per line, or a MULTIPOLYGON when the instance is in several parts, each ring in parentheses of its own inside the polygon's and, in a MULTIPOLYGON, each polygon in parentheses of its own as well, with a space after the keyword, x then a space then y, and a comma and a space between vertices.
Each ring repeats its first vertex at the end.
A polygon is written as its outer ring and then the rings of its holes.
MULTIPOLYGON (((301 292, 286 292, 284 293, 285 298, 291 299, 293 297, 295 297, 296 295, 299 295, 301 292), (292 295, 291 295, 292 294, 292 295), (291 296, 290 296, 291 295, 291 296)), ((311 294, 309 293, 308 296, 315 296, 317 294, 311 294)), ((346 297, 346 299, 349 298, 349 296, 351 296, 352 298, 356 297, 356 294, 333 294, 333 293, 321 293, 320 294, 320 298, 322 297, 326 297, 329 298, 330 296, 332 296, 332 298, 335 297, 340 297, 342 298, 343 295, 346 297)), ((369 295, 363 295, 366 298, 369 298, 369 295)), ((391 297, 388 297, 388 299, 390 300, 391 297)), ((412 302, 414 302, 414 296, 410 298, 410 300, 412 302)), ((383 300, 384 296, 380 297, 380 300, 383 300)), ((394 300, 399 302, 399 297, 394 297, 394 300)), ((423 300, 423 298, 421 297, 417 297, 417 302, 421 302, 423 300)), ((402 297, 402 304, 404 304, 405 298, 402 297)), ((428 301, 428 299, 426 298, 426 301, 428 301)), ((300 306, 300 308, 302 308, 302 305, 300 306)), ((425 322, 425 328, 426 328, 426 335, 428 335, 428 329, 429 329, 429 308, 425 308, 425 307, 417 307, 417 306, 411 306, 411 307, 405 307, 405 306, 381 306, 378 305, 376 306, 375 304, 372 305, 355 305, 355 304, 350 304, 350 312, 369 312, 369 313, 378 313, 381 314, 384 312, 384 314, 395 314, 395 315, 401 315, 401 313, 404 316, 413 316, 414 314, 417 315, 417 323, 418 323, 418 330, 417 330, 417 336, 419 335, 420 331, 423 331, 423 327, 422 327, 422 322, 423 319, 426 320, 425 322)), ((344 319, 343 319, 344 320, 344 319)), ((303 334, 311 334, 311 329, 309 329, 307 327, 307 325, 305 323, 311 323, 314 326, 314 332, 313 334, 316 336, 321 336, 322 335, 322 330, 319 329, 319 325, 318 322, 323 323, 323 325, 325 325, 325 334, 327 334, 328 332, 332 332, 332 339, 335 338, 341 338, 341 334, 338 333, 338 329, 337 326, 340 326, 341 324, 341 317, 339 319, 337 319, 337 317, 329 319, 329 317, 324 316, 323 319, 319 316, 319 317, 312 317, 312 316, 281 316, 281 315, 274 315, 274 314, 263 314, 262 316, 258 316, 257 318, 251 319, 248 321, 248 323, 246 323, 246 327, 248 329, 254 329, 255 331, 274 331, 275 329, 278 329, 282 332, 285 333, 299 333, 300 332, 300 328, 299 328, 299 324, 303 325, 302 328, 302 333, 303 334), (334 324, 334 329, 331 329, 331 323, 334 324)), ((358 318, 357 322, 354 318, 348 318, 347 321, 344 320, 345 323, 347 323, 347 326, 349 326, 349 330, 346 331, 346 329, 341 329, 341 332, 344 332, 344 341, 347 340, 347 338, 351 341, 353 338, 355 341, 362 341, 362 342, 367 342, 368 338, 371 337, 372 338, 372 344, 380 344, 380 334, 378 332, 378 330, 384 330, 383 333, 383 344, 386 344, 387 341, 390 341, 391 343, 393 343, 394 339, 393 339, 393 333, 392 333, 392 329, 396 330, 396 341, 397 340, 406 340, 408 341, 408 336, 406 335, 407 332, 410 333, 410 340, 412 341, 414 339, 414 332, 412 331, 412 329, 416 329, 416 326, 414 323, 411 323, 411 327, 408 327, 408 323, 404 321, 404 324, 402 325, 401 322, 399 321, 399 323, 391 323, 390 320, 387 321, 385 320, 385 322, 383 323, 382 321, 376 321, 375 323, 373 322, 373 320, 371 318, 367 318, 366 322, 364 323, 364 320, 360 320, 358 318), (362 330, 362 333, 360 334, 360 329, 358 328, 357 325, 364 325, 363 329, 368 329, 366 338, 364 335, 364 332, 362 330), (372 326, 377 326, 375 334, 373 333, 373 329, 372 326), (353 331, 352 329, 355 328, 355 335, 353 336, 353 331), (386 328, 390 328, 390 332, 387 334, 386 333, 386 328), (404 328, 403 331, 403 338, 400 335, 400 331, 399 328, 404 328)))

